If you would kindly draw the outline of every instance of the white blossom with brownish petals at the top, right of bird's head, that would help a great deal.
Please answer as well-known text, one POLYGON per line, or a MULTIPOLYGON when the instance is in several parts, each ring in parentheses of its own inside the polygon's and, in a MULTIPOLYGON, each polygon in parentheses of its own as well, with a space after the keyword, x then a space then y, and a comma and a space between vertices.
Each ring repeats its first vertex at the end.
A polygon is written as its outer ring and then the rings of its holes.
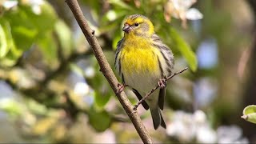
POLYGON ((202 19, 202 14, 195 8, 190 8, 197 0, 169 0, 165 5, 164 16, 166 22, 170 22, 171 17, 182 20, 182 26, 186 28, 186 19, 202 19))

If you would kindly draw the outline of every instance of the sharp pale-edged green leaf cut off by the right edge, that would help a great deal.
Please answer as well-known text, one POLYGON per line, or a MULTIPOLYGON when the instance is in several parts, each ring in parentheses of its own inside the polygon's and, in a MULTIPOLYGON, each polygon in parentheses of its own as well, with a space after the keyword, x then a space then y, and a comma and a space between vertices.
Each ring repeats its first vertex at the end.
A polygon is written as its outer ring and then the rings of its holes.
POLYGON ((256 105, 246 106, 242 114, 242 118, 246 121, 256 123, 256 105))

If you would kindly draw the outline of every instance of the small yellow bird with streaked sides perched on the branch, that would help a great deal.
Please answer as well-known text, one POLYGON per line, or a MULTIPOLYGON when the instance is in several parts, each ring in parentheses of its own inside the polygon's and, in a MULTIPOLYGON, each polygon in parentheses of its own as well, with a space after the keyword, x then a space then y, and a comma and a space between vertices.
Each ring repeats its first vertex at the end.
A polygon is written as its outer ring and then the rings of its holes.
POLYGON ((161 111, 166 95, 166 82, 160 80, 172 73, 174 54, 154 33, 150 19, 143 15, 127 17, 122 30, 124 37, 118 42, 114 66, 123 85, 130 86, 139 100, 158 82, 161 88, 146 98, 142 106, 146 110, 150 108, 155 130, 160 125, 166 128, 161 111))

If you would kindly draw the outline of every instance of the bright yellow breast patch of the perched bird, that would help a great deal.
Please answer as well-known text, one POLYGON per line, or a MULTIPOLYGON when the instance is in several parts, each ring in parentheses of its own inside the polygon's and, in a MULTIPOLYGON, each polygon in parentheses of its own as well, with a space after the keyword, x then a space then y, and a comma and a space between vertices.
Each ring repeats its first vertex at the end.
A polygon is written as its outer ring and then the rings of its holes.
POLYGON ((156 51, 143 39, 124 44, 120 58, 123 74, 152 74, 159 71, 156 51))

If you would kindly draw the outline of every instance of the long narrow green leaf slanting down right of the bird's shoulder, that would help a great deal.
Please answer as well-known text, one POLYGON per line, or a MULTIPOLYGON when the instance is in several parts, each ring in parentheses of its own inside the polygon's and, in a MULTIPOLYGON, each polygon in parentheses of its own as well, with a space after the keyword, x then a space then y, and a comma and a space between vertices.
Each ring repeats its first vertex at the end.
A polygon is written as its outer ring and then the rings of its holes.
POLYGON ((194 52, 191 50, 190 45, 187 44, 186 41, 173 28, 170 28, 170 38, 172 38, 174 46, 178 47, 178 50, 182 53, 182 56, 186 59, 186 62, 188 62, 190 69, 192 71, 196 71, 198 69, 198 60, 194 52))

